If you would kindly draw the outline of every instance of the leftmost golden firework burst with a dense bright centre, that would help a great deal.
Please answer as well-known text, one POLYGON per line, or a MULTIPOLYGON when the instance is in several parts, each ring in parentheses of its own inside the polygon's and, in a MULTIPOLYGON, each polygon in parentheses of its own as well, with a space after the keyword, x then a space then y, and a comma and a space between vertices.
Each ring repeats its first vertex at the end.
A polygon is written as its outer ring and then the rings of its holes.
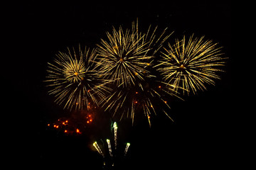
POLYGON ((81 49, 79 45, 78 51, 73 47, 68 52, 58 52, 53 64, 48 63, 46 77, 51 88, 49 94, 55 96, 55 102, 64 103, 64 108, 70 110, 88 108, 91 101, 97 104, 107 89, 100 85, 95 64, 94 49, 81 49))

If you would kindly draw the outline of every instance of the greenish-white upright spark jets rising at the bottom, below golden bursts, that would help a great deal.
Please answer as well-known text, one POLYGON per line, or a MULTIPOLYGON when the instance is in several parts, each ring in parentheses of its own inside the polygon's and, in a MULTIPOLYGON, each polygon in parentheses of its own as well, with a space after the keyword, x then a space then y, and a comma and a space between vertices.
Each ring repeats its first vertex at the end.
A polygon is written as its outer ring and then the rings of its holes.
MULTIPOLYGON (((109 139, 106 140, 107 142, 107 150, 108 154, 105 152, 105 148, 101 148, 97 141, 95 141, 92 146, 95 147, 97 152, 104 158, 103 166, 114 166, 114 163, 116 162, 116 158, 120 157, 117 155, 117 123, 114 122, 114 125, 112 126, 112 129, 114 129, 114 150, 112 150, 112 145, 109 139), (106 159, 106 157, 110 157, 110 159, 106 159), (107 162, 106 160, 109 160, 107 162)), ((123 156, 125 157, 127 155, 128 149, 129 149, 130 143, 127 142, 126 147, 123 152, 123 156)))

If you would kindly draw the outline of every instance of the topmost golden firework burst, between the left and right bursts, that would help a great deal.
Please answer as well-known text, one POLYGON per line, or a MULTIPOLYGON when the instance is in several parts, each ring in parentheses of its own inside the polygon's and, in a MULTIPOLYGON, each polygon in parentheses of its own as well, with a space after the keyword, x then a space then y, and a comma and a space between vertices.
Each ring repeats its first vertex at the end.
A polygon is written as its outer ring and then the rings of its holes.
MULTIPOLYGON (((157 28, 157 27, 156 27, 157 28)), ((156 28, 151 33, 151 27, 146 34, 139 33, 138 22, 132 23, 132 30, 119 30, 113 28, 112 33, 107 32, 108 40, 102 40, 98 46, 98 53, 101 62, 100 73, 105 79, 114 81, 117 86, 135 85, 137 80, 144 80, 150 77, 147 67, 151 65, 154 54, 159 50, 161 44, 153 49, 161 39, 164 32, 156 40, 156 28)))

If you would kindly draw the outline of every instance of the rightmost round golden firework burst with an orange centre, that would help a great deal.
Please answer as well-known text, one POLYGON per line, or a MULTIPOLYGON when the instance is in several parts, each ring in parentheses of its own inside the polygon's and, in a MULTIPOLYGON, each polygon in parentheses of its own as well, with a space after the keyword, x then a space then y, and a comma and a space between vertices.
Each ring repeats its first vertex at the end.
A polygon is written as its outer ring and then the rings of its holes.
POLYGON ((206 90, 206 84, 215 84, 214 79, 220 79, 216 72, 222 72, 225 58, 221 57, 221 47, 212 40, 201 38, 176 40, 174 45, 161 52, 161 60, 156 65, 167 86, 174 91, 181 89, 196 94, 198 90, 206 90))

